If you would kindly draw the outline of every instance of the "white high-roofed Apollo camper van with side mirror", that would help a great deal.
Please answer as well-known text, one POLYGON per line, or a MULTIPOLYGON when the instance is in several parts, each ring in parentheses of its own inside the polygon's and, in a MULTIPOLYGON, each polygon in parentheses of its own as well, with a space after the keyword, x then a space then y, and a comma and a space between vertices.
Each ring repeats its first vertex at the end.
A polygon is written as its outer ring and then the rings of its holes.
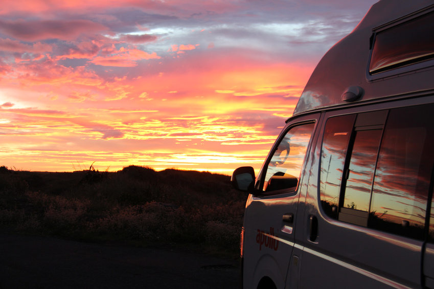
POLYGON ((232 183, 244 288, 434 288, 434 1, 375 4, 232 183))

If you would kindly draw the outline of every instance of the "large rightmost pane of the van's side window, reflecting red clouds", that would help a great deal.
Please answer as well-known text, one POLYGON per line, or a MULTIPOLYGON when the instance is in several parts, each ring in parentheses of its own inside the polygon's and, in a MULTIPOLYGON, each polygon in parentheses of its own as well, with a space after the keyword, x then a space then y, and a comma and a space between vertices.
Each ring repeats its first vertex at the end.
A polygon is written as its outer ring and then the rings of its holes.
POLYGON ((375 173, 370 227, 423 238, 434 160, 433 109, 391 111, 375 173))

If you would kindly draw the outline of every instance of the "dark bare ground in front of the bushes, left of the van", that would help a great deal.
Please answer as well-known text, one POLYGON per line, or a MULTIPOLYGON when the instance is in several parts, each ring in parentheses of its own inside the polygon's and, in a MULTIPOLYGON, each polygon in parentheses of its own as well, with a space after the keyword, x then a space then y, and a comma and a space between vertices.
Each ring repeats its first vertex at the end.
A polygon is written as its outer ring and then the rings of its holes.
POLYGON ((238 288, 238 262, 0 232, 0 288, 238 288))

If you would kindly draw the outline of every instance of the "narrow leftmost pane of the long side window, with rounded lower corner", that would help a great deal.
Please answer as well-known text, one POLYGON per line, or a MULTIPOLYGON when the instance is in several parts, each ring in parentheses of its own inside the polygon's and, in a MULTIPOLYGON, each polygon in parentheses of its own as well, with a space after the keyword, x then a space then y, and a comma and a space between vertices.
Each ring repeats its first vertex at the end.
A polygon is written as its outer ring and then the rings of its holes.
POLYGON ((324 130, 323 151, 321 154, 321 203, 324 211, 337 219, 342 171, 345 155, 353 130, 355 114, 331 117, 324 130))

